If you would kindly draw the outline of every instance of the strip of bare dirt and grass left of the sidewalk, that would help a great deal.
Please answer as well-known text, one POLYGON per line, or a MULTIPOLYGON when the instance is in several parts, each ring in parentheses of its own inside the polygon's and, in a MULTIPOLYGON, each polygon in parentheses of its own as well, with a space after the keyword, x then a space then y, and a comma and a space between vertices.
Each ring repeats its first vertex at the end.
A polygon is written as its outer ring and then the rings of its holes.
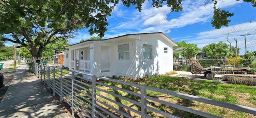
POLYGON ((4 86, 0 88, 0 102, 4 98, 4 94, 8 90, 10 83, 12 81, 12 78, 15 73, 15 69, 6 69, 6 70, 0 70, 1 73, 4 74, 4 86))

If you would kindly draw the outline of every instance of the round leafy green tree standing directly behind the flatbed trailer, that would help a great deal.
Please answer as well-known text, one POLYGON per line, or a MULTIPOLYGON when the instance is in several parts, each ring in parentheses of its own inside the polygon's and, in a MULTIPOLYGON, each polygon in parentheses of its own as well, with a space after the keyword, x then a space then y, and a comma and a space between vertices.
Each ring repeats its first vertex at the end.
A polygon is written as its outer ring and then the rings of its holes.
POLYGON ((218 44, 212 43, 203 47, 203 52, 206 56, 210 56, 214 60, 215 66, 218 64, 218 60, 222 59, 223 56, 231 56, 232 52, 229 50, 229 45, 222 41, 218 44))

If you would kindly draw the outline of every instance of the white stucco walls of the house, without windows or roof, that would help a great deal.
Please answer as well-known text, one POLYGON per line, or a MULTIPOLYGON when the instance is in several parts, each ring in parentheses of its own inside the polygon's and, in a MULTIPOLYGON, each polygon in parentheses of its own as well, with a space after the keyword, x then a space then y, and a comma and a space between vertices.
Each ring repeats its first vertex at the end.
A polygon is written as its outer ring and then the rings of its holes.
MULTIPOLYGON (((117 75, 126 76, 127 78, 141 78, 145 74, 166 74, 166 72, 173 71, 172 44, 174 43, 164 35, 144 34, 125 36, 118 40, 91 41, 69 47, 69 50, 78 50, 80 48, 80 51, 84 47, 90 47, 90 52, 84 52, 84 56, 87 55, 87 57, 88 53, 90 53, 90 57, 88 57, 91 60, 90 74, 97 76, 117 75), (129 44, 130 58, 126 60, 118 57, 118 45, 123 44, 129 44), (152 46, 152 59, 143 59, 143 44, 152 46), (164 53, 164 47, 168 48, 168 53, 164 53), (101 62, 104 60, 110 60, 109 72, 101 72, 101 62)), ((68 61, 72 58, 72 52, 68 52, 68 59, 65 57, 65 66, 70 66, 68 61)), ((76 51, 74 52, 73 56, 76 57, 76 51)))

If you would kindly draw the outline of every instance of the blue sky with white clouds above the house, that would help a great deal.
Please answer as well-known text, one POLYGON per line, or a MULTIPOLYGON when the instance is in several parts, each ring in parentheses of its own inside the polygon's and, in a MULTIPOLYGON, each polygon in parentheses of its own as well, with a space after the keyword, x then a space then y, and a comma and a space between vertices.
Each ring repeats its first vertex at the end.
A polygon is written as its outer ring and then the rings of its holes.
MULTIPOLYGON (((142 5, 142 12, 138 12, 134 6, 127 8, 118 4, 114 7, 112 16, 108 17, 108 30, 103 39, 125 34, 164 32, 175 42, 185 40, 188 43, 198 44, 198 48, 202 48, 219 41, 228 43, 225 32, 231 32, 231 29, 234 28, 240 29, 240 32, 228 36, 232 42, 231 45, 236 46, 234 38, 238 39, 240 54, 243 55, 245 42, 244 36, 240 35, 250 34, 246 36, 247 50, 256 51, 256 8, 253 8, 251 3, 242 0, 222 0, 223 3, 218 1, 217 8, 228 10, 234 13, 234 16, 228 18, 231 20, 228 27, 222 26, 221 29, 215 29, 211 25, 214 11, 212 2, 204 6, 204 1, 184 0, 182 2, 183 10, 171 14, 170 8, 167 6, 153 8, 147 0, 142 5)), ((97 36, 97 34, 93 36, 97 36)), ((70 43, 75 44, 90 37, 88 29, 80 30, 76 37, 70 40, 70 43)))

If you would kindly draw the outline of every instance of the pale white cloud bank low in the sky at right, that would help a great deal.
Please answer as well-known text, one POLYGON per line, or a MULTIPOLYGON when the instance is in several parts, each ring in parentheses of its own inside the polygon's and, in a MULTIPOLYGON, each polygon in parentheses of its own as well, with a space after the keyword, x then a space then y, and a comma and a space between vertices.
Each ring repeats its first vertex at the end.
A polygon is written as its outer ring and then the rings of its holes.
MULTIPOLYGON (((238 39, 238 47, 240 48, 240 54, 245 53, 245 42, 244 42, 244 35, 245 34, 250 34, 246 35, 246 45, 248 50, 255 51, 256 48, 256 22, 255 23, 242 23, 242 24, 237 24, 234 26, 228 26, 228 27, 223 27, 221 29, 214 29, 210 31, 205 31, 205 32, 199 32, 195 34, 195 37, 179 37, 176 39, 183 39, 186 40, 188 43, 194 43, 198 44, 199 48, 202 48, 208 44, 211 43, 218 43, 219 41, 228 43, 226 40, 227 35, 224 34, 224 32, 227 32, 230 30, 230 28, 235 28, 235 29, 241 29, 240 32, 236 34, 230 34, 228 36, 228 39, 231 43, 232 46, 236 46, 236 41, 235 39, 238 39)), ((229 44, 229 43, 228 43, 229 44)))

